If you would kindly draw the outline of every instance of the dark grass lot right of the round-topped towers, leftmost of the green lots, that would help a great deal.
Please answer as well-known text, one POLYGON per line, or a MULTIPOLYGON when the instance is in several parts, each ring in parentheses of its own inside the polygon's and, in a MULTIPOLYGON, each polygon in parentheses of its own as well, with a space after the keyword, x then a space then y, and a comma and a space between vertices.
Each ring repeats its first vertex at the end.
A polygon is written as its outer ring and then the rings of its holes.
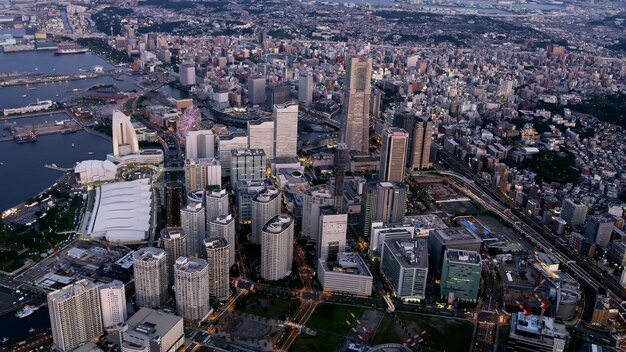
POLYGON ((299 305, 300 302, 295 299, 270 298, 249 293, 237 303, 236 311, 282 320, 292 317, 299 305))

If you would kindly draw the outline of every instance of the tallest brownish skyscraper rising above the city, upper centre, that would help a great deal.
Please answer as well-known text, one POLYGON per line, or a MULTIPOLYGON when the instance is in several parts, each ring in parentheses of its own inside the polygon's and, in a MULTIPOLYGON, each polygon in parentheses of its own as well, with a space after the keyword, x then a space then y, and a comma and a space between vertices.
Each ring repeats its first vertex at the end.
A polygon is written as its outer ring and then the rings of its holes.
POLYGON ((369 151, 369 109, 372 59, 354 56, 346 63, 341 120, 342 142, 348 150, 369 151))

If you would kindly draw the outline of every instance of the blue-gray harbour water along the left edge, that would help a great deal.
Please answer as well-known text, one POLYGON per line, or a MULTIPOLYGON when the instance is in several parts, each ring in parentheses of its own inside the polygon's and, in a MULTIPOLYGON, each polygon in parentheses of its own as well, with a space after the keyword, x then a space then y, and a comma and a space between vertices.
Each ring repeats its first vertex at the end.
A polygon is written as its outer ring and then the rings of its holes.
MULTIPOLYGON (((78 73, 79 70, 88 70, 94 65, 103 66, 105 70, 113 68, 102 58, 91 54, 55 56, 52 52, 37 51, 0 53, 0 72, 78 73), (38 70, 35 71, 35 68, 38 70)), ((26 86, 4 87, 0 88, 0 108, 23 106, 37 99, 61 100, 76 94, 72 92, 74 88, 84 89, 96 83, 114 84, 123 90, 136 88, 133 77, 125 77, 124 82, 115 81, 110 77, 101 77, 67 83, 38 84, 33 86, 37 88, 34 90, 29 90, 26 86), (57 94, 59 97, 56 97, 57 94)), ((8 135, 8 131, 4 130, 5 124, 37 123, 67 118, 65 114, 53 114, 2 121, 0 134, 8 135)), ((0 163, 2 163, 0 164, 0 211, 38 194, 62 176, 59 171, 44 168, 45 164, 54 163, 60 167, 72 167, 81 160, 102 160, 111 151, 109 141, 84 131, 41 136, 35 143, 0 142, 0 163), (72 148, 72 143, 74 148, 72 148), (87 154, 90 151, 93 155, 87 154)))

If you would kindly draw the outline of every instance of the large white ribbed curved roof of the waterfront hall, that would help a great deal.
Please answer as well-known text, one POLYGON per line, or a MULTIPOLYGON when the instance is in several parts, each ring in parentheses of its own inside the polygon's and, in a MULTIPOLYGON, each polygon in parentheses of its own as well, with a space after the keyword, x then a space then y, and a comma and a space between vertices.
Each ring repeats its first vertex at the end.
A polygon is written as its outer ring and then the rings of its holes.
POLYGON ((88 233, 105 236, 109 241, 145 240, 152 213, 150 179, 100 186, 95 198, 88 233))

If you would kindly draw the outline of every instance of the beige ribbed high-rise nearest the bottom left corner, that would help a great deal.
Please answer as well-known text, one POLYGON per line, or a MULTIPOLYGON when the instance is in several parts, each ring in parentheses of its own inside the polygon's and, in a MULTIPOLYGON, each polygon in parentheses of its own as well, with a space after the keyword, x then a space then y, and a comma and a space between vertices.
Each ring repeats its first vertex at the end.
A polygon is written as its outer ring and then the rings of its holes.
POLYGON ((54 347, 71 351, 103 333, 98 286, 83 279, 48 294, 54 347))

